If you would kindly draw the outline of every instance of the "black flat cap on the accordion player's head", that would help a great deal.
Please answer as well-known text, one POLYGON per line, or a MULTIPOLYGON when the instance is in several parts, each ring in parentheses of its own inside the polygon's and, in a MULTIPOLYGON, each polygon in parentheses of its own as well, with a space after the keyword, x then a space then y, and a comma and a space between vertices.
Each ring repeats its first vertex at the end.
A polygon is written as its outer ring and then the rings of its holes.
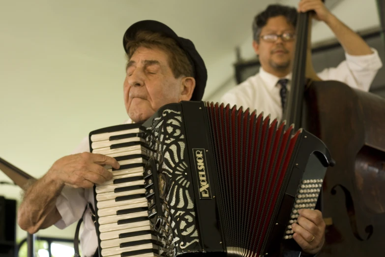
POLYGON ((178 36, 172 29, 170 29, 170 27, 161 22, 145 20, 134 23, 124 33, 123 47, 126 53, 129 50, 126 49, 127 42, 130 39, 133 39, 136 33, 139 31, 160 32, 163 33, 165 36, 174 39, 177 42, 178 46, 186 53, 187 58, 190 64, 192 65, 194 71, 195 89, 190 100, 202 100, 207 82, 207 69, 202 57, 195 49, 193 42, 191 42, 191 40, 189 39, 178 36))

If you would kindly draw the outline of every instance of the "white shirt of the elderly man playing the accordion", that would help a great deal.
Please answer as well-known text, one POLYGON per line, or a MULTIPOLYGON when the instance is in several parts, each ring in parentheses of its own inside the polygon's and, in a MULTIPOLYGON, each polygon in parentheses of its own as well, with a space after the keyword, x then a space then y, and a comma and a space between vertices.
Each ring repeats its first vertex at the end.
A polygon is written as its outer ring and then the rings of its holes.
MULTIPOLYGON (((123 124, 134 123, 131 119, 126 120, 123 124)), ((106 126, 108 127, 108 126, 106 126)), ((97 129, 97 128, 96 128, 97 129)), ((83 152, 89 152, 89 137, 83 138, 81 143, 76 147, 71 154, 79 154, 83 152)), ((78 222, 82 218, 83 212, 86 208, 87 203, 92 204, 95 209, 93 188, 82 189, 82 188, 71 188, 65 186, 61 191, 58 199, 56 200, 56 208, 61 215, 55 226, 63 229, 74 222, 78 222)), ((82 257, 92 257, 95 253, 98 241, 96 235, 95 225, 91 218, 91 210, 88 208, 83 217, 83 231, 80 234, 80 248, 82 249, 82 257)))

